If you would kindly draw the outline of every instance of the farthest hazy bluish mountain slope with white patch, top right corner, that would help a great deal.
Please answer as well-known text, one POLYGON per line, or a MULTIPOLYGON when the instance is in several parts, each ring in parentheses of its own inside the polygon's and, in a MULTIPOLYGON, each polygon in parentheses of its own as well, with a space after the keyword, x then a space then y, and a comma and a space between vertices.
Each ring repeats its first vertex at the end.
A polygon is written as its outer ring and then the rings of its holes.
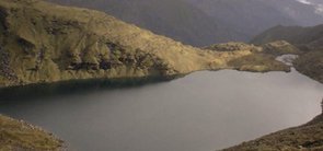
POLYGON ((313 5, 296 0, 188 0, 212 16, 219 26, 239 33, 235 39, 250 40, 276 25, 316 25, 323 16, 313 5))

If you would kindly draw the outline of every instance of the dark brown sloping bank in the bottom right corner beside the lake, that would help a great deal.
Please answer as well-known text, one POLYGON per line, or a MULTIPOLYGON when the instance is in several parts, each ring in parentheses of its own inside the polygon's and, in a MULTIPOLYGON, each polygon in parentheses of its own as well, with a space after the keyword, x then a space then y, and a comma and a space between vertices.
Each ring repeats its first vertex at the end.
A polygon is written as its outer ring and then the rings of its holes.
POLYGON ((308 124, 280 130, 262 138, 243 142, 239 146, 223 149, 223 151, 237 150, 323 150, 323 101, 322 114, 308 124))

